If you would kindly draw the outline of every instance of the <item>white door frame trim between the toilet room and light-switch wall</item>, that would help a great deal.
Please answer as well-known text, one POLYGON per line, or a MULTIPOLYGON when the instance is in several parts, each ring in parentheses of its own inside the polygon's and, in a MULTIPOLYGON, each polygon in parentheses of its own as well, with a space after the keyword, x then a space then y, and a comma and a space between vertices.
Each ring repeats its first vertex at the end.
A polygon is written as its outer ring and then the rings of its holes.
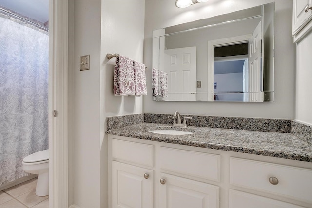
POLYGON ((49 208, 68 208, 67 76, 68 0, 49 0, 49 208))

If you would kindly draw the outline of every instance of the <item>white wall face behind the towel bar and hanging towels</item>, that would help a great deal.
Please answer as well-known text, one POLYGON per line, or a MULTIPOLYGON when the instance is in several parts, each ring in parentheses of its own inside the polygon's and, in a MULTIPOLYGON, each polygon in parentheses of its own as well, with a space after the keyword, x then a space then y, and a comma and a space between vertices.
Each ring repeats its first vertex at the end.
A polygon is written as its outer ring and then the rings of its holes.
POLYGON ((143 113, 143 97, 114 96, 113 75, 117 53, 143 62, 144 0, 102 0, 100 71, 100 181, 101 208, 108 207, 106 117, 143 113))

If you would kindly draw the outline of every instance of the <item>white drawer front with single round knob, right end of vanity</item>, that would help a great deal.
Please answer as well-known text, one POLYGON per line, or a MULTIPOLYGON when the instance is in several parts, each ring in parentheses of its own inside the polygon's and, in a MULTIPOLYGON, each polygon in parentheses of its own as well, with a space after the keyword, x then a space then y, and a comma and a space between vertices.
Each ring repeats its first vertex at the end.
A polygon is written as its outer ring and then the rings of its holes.
POLYGON ((312 170, 231 157, 230 184, 312 202, 312 170), (273 185, 269 179, 275 177, 273 185))

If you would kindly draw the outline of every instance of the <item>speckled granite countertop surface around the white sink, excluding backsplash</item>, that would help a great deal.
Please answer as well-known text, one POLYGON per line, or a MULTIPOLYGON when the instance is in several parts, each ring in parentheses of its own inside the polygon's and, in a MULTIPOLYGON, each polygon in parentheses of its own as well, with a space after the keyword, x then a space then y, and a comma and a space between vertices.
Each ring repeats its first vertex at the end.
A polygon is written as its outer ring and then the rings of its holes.
POLYGON ((106 133, 158 142, 312 162, 312 145, 290 133, 194 126, 185 128, 155 123, 139 123, 108 130, 106 133), (193 132, 194 134, 164 135, 148 132, 156 129, 181 130, 193 132))

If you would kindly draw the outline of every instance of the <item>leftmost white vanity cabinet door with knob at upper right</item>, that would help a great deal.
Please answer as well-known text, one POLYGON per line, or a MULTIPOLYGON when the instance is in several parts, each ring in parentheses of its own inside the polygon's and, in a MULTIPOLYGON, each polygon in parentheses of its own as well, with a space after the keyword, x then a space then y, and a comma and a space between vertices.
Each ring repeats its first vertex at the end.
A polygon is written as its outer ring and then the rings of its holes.
POLYGON ((153 179, 153 170, 113 161, 112 208, 153 208, 153 179))

